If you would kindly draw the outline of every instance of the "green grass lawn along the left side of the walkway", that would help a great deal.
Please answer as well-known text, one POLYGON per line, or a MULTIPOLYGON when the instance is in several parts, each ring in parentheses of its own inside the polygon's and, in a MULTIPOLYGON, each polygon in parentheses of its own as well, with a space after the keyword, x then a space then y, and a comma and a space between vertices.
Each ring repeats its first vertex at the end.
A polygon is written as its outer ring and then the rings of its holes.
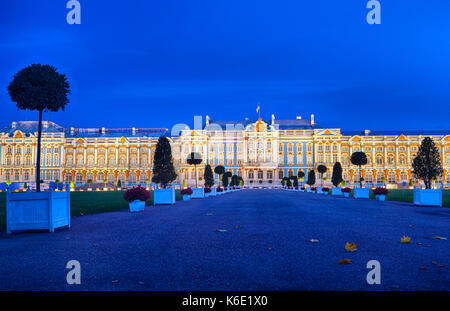
MULTIPOLYGON (((73 191, 70 193, 70 215, 72 217, 114 212, 128 209, 123 199, 124 191, 73 191)), ((175 190, 175 199, 182 200, 180 190, 175 190)), ((153 191, 146 205, 153 204, 153 191)), ((0 231, 6 230, 6 193, 0 193, 0 231)))

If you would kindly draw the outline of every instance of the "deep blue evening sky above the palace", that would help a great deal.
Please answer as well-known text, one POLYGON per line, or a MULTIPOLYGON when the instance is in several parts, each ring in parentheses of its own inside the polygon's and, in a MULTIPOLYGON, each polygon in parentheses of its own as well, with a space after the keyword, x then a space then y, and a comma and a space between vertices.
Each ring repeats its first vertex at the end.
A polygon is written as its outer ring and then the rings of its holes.
POLYGON ((450 2, 66 0, 0 4, 0 126, 36 120, 7 86, 31 63, 67 74, 75 127, 171 127, 316 115, 347 130, 450 129, 450 2))

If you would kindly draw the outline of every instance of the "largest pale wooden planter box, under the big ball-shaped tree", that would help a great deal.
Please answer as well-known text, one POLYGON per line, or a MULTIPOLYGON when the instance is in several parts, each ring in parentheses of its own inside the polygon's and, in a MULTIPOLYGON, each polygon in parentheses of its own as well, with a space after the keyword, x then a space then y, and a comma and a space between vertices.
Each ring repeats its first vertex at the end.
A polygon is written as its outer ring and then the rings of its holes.
POLYGON ((6 232, 70 228, 70 191, 6 193, 6 232))

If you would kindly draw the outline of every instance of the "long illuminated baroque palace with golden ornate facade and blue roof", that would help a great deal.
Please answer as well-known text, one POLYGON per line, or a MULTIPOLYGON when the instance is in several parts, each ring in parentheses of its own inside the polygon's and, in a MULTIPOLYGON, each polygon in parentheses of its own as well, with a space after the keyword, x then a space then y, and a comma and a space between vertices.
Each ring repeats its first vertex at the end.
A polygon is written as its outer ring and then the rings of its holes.
MULTIPOLYGON (((324 164, 331 179, 333 164, 341 162, 344 180, 359 181, 359 170, 351 165, 350 155, 364 151, 369 163, 362 175, 367 184, 404 185, 413 179, 411 163, 422 139, 430 136, 441 153, 442 180, 450 186, 450 131, 434 132, 345 132, 338 128, 321 128, 310 120, 213 122, 206 121, 191 130, 185 125, 159 128, 63 128, 44 121, 41 152, 41 179, 83 184, 121 181, 123 184, 151 180, 153 154, 161 135, 172 144, 178 183, 195 184, 194 168, 186 163, 190 152, 202 155, 203 164, 225 166, 242 176, 247 185, 277 185, 285 176, 324 164), (174 131, 174 129, 177 129, 174 131), (177 133, 175 133, 177 132, 177 133)), ((13 122, 0 130, 0 182, 34 184, 37 122, 13 122)), ((199 166, 199 176, 203 174, 199 166)), ((217 181, 217 175, 215 175, 217 181)), ((319 181, 320 179, 317 178, 319 181)), ((201 184, 201 183, 200 183, 201 184)))

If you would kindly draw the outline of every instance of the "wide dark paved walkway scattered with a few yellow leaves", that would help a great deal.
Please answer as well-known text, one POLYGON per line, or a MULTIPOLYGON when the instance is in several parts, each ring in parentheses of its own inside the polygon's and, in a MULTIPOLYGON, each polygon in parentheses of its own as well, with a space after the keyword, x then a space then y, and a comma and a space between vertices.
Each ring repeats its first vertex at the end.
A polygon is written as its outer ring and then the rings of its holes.
POLYGON ((247 190, 2 235, 0 289, 450 290, 449 243, 450 209, 247 190), (346 242, 358 250, 346 253, 346 242), (72 259, 81 285, 66 284, 72 259), (381 285, 366 282, 372 259, 381 285))

